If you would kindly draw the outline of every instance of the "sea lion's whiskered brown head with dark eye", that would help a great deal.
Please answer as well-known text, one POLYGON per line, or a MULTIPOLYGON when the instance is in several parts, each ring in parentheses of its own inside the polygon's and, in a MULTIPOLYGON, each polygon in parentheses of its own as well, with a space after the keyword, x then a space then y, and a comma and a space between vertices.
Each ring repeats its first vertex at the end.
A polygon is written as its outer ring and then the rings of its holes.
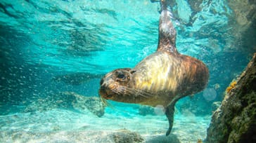
POLYGON ((106 100, 123 102, 128 95, 127 88, 132 86, 132 71, 129 68, 115 69, 101 79, 99 94, 106 100))

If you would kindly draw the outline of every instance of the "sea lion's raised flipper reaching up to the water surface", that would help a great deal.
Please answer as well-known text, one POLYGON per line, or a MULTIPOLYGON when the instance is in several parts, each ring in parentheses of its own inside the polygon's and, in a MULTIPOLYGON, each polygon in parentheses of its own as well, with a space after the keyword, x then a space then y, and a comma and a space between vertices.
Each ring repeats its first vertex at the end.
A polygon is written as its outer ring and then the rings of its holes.
POLYGON ((172 13, 168 10, 170 1, 161 0, 161 15, 158 25, 158 50, 178 53, 176 48, 176 30, 172 24, 172 13))

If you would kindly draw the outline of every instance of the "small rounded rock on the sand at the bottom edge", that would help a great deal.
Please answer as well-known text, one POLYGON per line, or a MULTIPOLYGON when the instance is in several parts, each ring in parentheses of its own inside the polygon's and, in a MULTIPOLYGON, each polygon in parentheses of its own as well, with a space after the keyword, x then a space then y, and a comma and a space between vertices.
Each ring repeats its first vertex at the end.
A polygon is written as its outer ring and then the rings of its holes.
POLYGON ((143 142, 143 138, 136 132, 131 132, 129 130, 118 130, 113 132, 111 136, 115 143, 135 143, 143 142))

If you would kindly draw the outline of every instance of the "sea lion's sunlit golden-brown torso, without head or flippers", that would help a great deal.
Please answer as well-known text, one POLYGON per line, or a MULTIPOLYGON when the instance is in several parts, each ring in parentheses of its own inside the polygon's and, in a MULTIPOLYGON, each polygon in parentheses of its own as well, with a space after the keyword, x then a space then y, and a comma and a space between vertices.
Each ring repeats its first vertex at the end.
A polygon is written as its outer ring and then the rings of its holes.
POLYGON ((157 51, 132 69, 133 87, 151 93, 139 104, 167 107, 186 95, 203 90, 207 83, 207 67, 200 60, 186 55, 157 51))

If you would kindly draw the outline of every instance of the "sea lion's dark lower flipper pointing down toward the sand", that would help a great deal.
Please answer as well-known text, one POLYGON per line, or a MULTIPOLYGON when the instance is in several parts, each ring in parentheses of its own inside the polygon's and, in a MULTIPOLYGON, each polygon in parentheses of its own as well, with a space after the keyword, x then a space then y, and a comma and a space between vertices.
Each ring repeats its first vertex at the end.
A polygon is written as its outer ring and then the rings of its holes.
POLYGON ((174 110, 174 104, 169 104, 169 106, 165 110, 165 115, 167 116, 169 121, 169 128, 166 132, 166 136, 169 135, 169 133, 172 131, 172 125, 174 121, 174 110))

